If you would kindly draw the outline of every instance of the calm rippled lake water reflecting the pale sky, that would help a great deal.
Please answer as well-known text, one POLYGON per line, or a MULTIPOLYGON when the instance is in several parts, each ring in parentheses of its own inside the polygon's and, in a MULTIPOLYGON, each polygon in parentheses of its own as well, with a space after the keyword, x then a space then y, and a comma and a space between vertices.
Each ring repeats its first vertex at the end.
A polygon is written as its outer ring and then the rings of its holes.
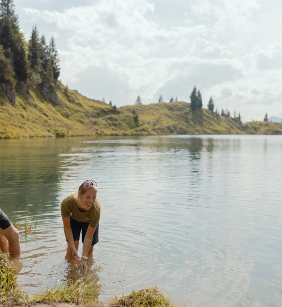
POLYGON ((157 285, 180 305, 282 306, 281 200, 281 136, 0 140, 0 207, 22 225, 30 294, 86 275, 101 301, 157 285), (103 210, 81 272, 60 203, 86 179, 103 210))

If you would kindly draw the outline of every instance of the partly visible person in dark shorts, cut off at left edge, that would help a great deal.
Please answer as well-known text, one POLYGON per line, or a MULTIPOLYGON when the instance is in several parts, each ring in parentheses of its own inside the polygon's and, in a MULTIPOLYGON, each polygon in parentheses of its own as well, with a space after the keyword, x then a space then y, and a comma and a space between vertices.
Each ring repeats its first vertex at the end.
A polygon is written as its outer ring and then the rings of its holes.
POLYGON ((20 255, 19 233, 0 209, 0 248, 11 257, 20 255))

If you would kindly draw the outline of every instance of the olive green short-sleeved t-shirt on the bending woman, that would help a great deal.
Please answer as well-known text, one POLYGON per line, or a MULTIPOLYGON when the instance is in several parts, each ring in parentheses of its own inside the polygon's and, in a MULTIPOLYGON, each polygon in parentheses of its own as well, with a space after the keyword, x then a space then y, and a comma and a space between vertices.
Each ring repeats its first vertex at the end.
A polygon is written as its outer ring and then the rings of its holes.
POLYGON ((61 214, 63 217, 67 218, 69 216, 72 217, 77 222, 89 223, 89 225, 93 228, 96 228, 99 219, 100 219, 100 211, 96 209, 95 206, 92 206, 87 211, 80 211, 77 202, 75 200, 75 194, 71 193, 65 197, 65 199, 61 203, 61 214))

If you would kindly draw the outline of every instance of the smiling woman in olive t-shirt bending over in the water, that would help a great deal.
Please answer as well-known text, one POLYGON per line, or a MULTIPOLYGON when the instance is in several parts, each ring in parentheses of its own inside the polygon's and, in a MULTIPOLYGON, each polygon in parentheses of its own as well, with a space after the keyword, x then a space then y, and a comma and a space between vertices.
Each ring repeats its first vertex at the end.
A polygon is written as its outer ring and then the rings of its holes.
POLYGON ((86 268, 88 255, 93 254, 94 245, 99 241, 99 220, 102 208, 97 199, 97 184, 94 180, 84 181, 65 197, 61 204, 64 232, 68 242, 65 258, 75 259, 81 269, 86 268), (82 233, 82 257, 78 255, 80 233, 82 233))

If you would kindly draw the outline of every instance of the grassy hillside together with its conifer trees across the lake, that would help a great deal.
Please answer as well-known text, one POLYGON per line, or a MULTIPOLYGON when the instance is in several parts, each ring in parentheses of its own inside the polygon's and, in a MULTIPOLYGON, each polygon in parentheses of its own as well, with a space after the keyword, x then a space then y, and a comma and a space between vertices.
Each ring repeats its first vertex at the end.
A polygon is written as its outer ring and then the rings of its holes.
MULTIPOLYGON (((242 124, 202 108, 196 87, 187 102, 116 108, 59 81, 54 37, 47 44, 34 26, 25 40, 12 0, 0 1, 0 138, 157 134, 282 134, 282 124, 242 124)), ((140 96, 139 103, 141 103, 140 96)), ((162 99, 160 99, 162 101, 162 99)), ((240 113, 239 113, 240 114, 240 113)), ((235 116, 235 115, 234 115, 235 116)), ((236 116, 235 116, 236 117, 236 116)))

